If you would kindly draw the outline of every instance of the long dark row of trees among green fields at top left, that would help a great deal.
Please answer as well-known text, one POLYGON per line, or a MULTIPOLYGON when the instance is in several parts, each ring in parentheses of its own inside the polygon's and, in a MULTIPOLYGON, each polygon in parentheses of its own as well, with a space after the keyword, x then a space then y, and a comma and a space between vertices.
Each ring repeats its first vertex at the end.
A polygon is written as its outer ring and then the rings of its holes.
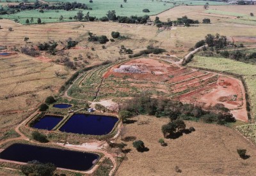
POLYGON ((35 10, 35 9, 39 9, 42 10, 41 12, 44 13, 44 10, 75 10, 76 8, 78 9, 84 9, 84 10, 92 10, 92 8, 88 8, 88 6, 86 4, 82 4, 82 3, 58 3, 58 4, 53 4, 53 5, 49 5, 49 4, 43 4, 43 3, 39 3, 38 1, 36 1, 34 4, 29 3, 20 3, 18 5, 10 5, 9 8, 12 9, 18 9, 18 10, 35 10))

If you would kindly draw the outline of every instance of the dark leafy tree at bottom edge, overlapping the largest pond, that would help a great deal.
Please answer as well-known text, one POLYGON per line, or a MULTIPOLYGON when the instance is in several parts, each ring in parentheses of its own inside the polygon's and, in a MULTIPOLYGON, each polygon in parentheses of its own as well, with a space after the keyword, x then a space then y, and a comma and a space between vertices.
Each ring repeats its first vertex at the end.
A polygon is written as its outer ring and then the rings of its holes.
POLYGON ((52 163, 40 163, 39 161, 31 161, 27 165, 20 166, 21 172, 24 175, 36 175, 36 176, 45 176, 53 175, 56 166, 52 163))

